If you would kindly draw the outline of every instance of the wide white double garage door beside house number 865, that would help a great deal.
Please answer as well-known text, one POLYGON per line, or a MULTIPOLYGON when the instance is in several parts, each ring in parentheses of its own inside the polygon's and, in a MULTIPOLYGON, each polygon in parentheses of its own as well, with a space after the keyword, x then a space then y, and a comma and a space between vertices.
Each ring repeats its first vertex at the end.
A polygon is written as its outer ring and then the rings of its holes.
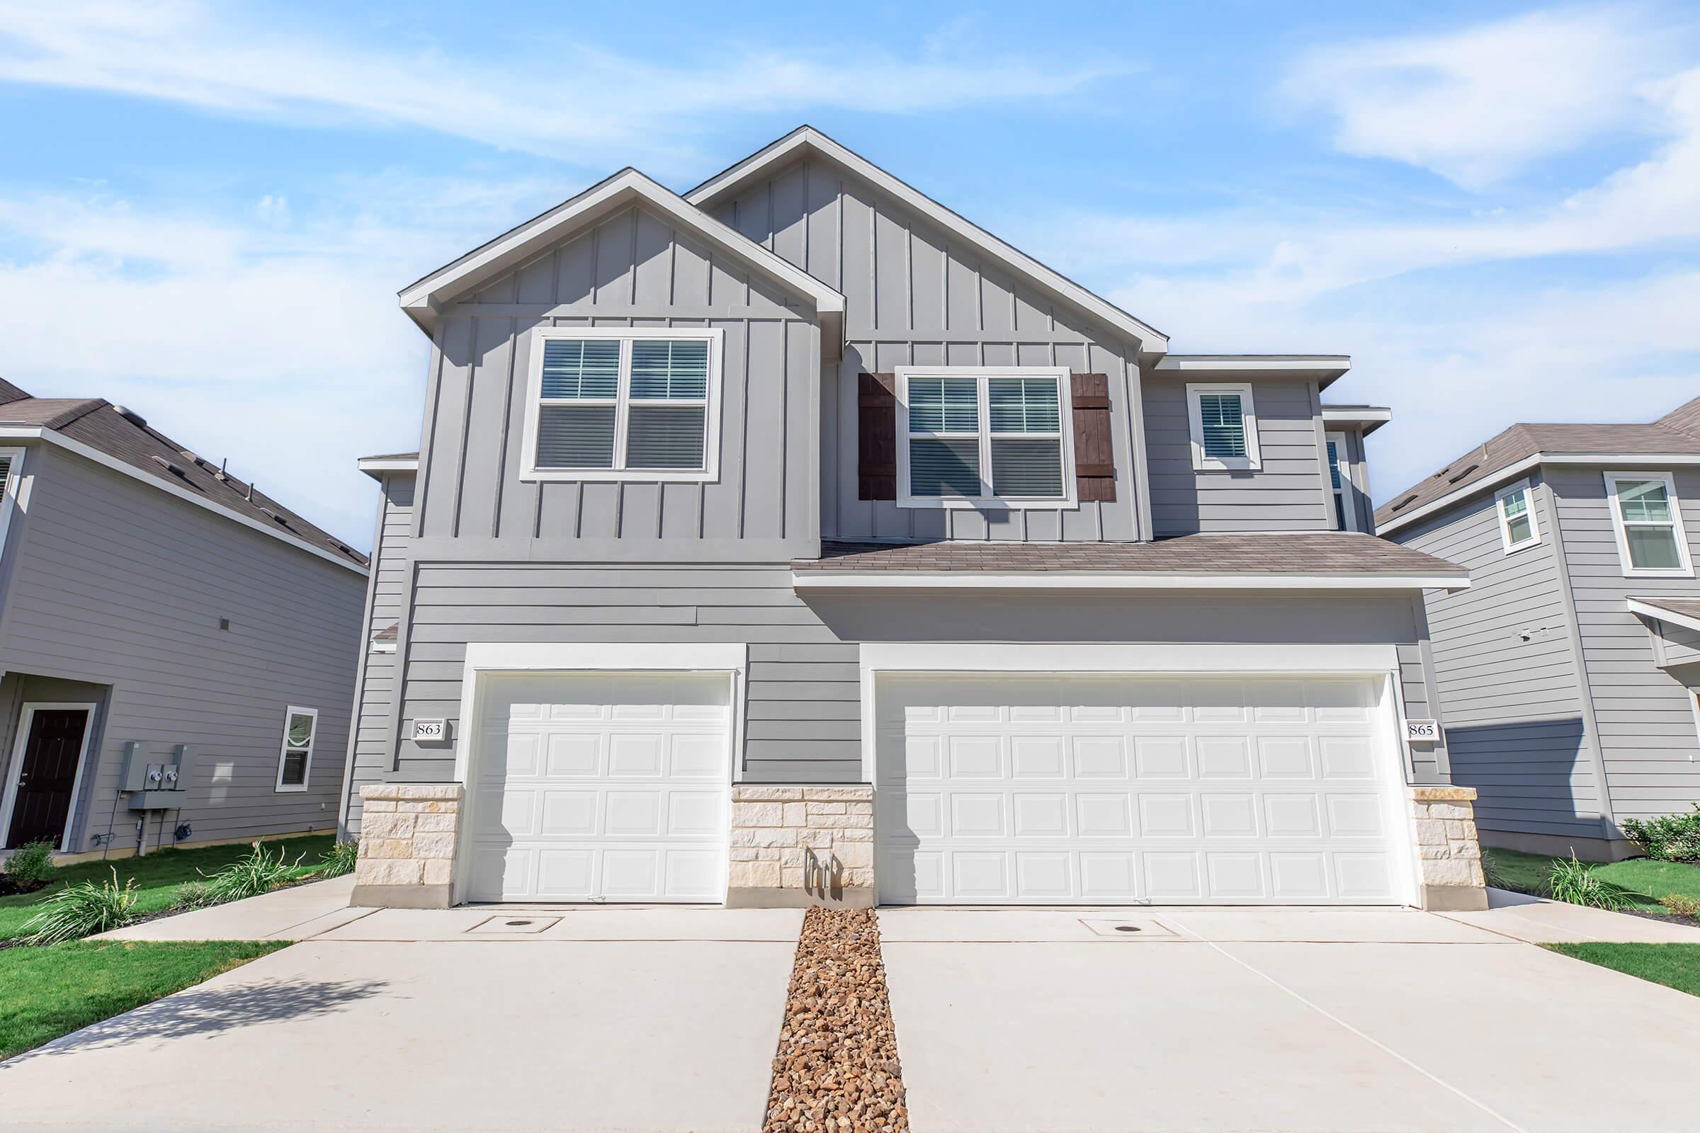
POLYGON ((877 713, 882 902, 1406 899, 1377 681, 889 676, 877 713))

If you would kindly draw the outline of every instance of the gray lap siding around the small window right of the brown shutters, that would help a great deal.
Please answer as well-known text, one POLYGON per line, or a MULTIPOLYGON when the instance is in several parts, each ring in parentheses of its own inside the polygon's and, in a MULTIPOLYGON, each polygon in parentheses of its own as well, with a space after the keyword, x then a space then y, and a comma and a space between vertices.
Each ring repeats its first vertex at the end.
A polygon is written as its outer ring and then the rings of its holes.
POLYGON ((1316 380, 1231 379, 1251 386, 1261 465, 1232 472, 1192 467, 1187 386, 1216 380, 1146 375, 1146 450, 1156 535, 1333 530, 1333 489, 1328 450, 1321 447, 1316 380))

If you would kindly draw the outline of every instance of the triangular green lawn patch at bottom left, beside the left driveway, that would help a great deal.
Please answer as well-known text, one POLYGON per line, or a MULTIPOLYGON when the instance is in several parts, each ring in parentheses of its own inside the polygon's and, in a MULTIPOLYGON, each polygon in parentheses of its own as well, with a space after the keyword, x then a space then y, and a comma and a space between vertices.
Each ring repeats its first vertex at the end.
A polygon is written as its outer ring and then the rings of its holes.
POLYGON ((0 951, 0 1058, 286 948, 287 941, 73 941, 0 951))

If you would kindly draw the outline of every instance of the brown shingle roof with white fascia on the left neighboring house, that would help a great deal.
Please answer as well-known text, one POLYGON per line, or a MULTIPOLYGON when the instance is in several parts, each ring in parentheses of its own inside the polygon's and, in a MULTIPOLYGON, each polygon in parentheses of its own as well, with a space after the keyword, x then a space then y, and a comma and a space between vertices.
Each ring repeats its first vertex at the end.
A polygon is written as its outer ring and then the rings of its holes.
MULTIPOLYGON (((223 474, 141 416, 100 397, 31 397, 0 380, 0 443, 39 438, 292 544, 366 572, 367 559, 252 484, 223 474)), ((27 469, 26 469, 27 471, 27 469)))

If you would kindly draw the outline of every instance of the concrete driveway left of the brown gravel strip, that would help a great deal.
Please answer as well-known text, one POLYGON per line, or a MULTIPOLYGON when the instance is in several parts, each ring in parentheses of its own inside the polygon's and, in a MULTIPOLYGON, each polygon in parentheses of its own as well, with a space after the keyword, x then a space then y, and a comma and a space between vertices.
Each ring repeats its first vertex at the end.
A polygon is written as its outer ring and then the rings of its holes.
POLYGON ((0 1063, 0 1126, 748 1133, 801 926, 377 910, 0 1063))

